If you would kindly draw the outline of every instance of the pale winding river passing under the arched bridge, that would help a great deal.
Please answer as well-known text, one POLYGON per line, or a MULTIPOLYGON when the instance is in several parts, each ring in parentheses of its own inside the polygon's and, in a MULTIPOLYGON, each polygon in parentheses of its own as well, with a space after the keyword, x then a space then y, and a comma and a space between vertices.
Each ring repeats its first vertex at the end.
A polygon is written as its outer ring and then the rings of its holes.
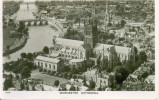
MULTIPOLYGON (((19 19, 34 19, 33 12, 37 12, 37 7, 35 3, 28 4, 29 9, 27 9, 27 4, 22 3, 20 5, 19 11, 16 13, 16 20, 19 19)), ((12 53, 8 56, 3 57, 3 63, 9 61, 15 61, 20 58, 20 54, 23 52, 33 53, 42 51, 44 46, 51 47, 52 46, 52 38, 53 36, 58 36, 59 32, 53 30, 49 26, 30 26, 29 27, 29 39, 27 40, 26 45, 18 50, 15 53, 12 53)))

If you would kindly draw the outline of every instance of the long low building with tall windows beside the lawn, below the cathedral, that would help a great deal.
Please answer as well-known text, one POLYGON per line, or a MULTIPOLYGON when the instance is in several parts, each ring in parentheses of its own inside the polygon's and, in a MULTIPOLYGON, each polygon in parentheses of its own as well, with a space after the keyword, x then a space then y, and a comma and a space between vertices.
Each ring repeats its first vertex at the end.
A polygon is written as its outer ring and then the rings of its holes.
POLYGON ((38 56, 34 60, 36 66, 41 67, 42 69, 46 69, 47 71, 56 71, 62 72, 63 71, 63 61, 57 58, 49 58, 44 56, 38 56))

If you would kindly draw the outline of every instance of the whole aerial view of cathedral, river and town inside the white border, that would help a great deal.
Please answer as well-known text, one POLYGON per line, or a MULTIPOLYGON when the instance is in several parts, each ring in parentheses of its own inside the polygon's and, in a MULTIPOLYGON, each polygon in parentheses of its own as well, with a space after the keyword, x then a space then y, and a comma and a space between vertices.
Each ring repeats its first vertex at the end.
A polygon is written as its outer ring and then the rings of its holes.
POLYGON ((154 0, 3 0, 3 91, 155 91, 154 0))

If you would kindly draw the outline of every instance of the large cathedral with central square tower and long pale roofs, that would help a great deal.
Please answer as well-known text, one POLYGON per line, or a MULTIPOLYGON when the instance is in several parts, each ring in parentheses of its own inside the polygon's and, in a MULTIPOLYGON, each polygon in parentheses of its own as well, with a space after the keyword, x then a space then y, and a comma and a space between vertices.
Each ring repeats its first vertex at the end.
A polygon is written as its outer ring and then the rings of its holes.
POLYGON ((130 60, 134 55, 133 49, 123 46, 115 46, 97 43, 97 21, 89 20, 84 26, 84 40, 71 40, 54 38, 53 47, 50 48, 51 57, 60 57, 65 62, 72 59, 105 59, 109 67, 116 66, 118 62, 130 60))

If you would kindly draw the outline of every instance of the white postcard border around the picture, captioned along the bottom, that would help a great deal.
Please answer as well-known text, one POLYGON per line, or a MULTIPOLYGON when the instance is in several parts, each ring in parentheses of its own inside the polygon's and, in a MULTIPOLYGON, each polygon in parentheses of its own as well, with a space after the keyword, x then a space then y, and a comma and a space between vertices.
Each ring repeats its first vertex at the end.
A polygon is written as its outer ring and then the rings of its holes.
MULTIPOLYGON (((159 0, 155 0, 155 91, 110 91, 110 92, 98 92, 98 94, 60 94, 59 91, 14 91, 8 92, 3 91, 2 85, 0 85, 0 99, 159 99, 159 0)), ((0 0, 0 12, 2 13, 2 0, 0 0)), ((1 14, 2 15, 2 14, 1 14)), ((3 45, 3 35, 2 35, 2 16, 0 16, 0 84, 2 84, 2 45, 3 45)))

